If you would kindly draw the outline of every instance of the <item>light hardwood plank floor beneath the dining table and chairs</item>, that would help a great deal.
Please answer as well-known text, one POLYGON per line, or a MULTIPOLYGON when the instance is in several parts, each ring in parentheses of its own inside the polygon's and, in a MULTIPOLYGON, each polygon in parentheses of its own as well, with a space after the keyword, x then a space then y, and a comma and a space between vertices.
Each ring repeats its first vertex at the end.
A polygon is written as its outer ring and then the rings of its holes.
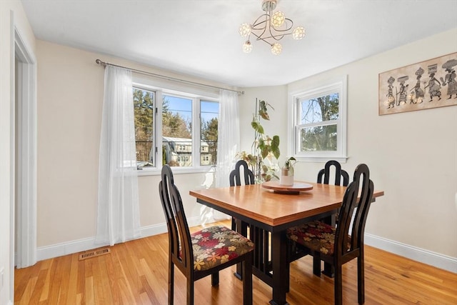
MULTIPOLYGON (((219 223, 221 224, 221 223, 219 223)), ((223 222, 229 226, 229 222, 223 222)), ((200 229, 199 227, 193 230, 200 229)), ((16 269, 14 304, 166 304, 166 234, 116 244, 111 254, 79 261, 79 254, 16 269)), ((365 304, 457 304, 457 274, 366 246, 365 304)), ((195 284, 195 304, 242 304, 234 268, 195 284)), ((357 304, 356 260, 343 266, 344 304, 357 304)), ((271 288, 253 276, 253 303, 268 304, 271 288)), ((333 279, 313 275, 309 256, 291 264, 291 305, 332 304, 333 279)), ((175 271, 175 304, 186 304, 186 281, 175 271)))

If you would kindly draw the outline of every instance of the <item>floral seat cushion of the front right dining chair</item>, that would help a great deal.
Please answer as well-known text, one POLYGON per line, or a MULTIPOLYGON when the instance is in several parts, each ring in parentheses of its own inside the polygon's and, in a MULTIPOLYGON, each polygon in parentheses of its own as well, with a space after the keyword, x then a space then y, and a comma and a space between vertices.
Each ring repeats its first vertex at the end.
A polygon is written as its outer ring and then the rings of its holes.
MULTIPOLYGON (((300 226, 287 229, 287 237, 313 251, 328 256, 335 251, 336 228, 321 221, 311 221, 300 226)), ((351 244, 348 242, 348 249, 351 244)))

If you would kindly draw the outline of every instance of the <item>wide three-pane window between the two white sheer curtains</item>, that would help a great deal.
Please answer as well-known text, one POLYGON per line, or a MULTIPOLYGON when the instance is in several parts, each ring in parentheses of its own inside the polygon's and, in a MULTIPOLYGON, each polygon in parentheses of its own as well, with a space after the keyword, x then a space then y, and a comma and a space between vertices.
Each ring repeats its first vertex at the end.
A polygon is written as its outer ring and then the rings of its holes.
POLYGON ((218 101, 146 85, 135 85, 133 95, 139 169, 216 164, 218 101))

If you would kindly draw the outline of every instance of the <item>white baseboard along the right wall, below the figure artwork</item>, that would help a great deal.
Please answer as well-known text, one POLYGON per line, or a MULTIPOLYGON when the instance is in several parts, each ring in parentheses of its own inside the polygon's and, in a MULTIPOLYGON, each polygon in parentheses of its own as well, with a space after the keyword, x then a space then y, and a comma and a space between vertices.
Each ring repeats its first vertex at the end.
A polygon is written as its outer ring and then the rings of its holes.
POLYGON ((365 234, 365 244, 382 249, 399 256, 406 257, 413 261, 419 261, 423 264, 428 264, 439 269, 444 269, 457 274, 457 258, 438 254, 433 251, 417 248, 408 244, 402 244, 398 241, 384 239, 372 234, 365 234))

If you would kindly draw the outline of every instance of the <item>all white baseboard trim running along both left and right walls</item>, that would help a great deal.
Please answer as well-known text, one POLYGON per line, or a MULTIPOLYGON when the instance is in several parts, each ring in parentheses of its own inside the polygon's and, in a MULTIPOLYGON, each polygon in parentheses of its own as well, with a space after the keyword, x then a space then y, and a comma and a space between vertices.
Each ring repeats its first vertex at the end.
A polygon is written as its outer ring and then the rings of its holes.
MULTIPOLYGON (((201 218, 198 216, 189 218, 187 221, 189 226, 198 226, 201 224, 201 218)), ((156 224, 154 226, 144 226, 141 228, 141 237, 162 234, 166 233, 166 231, 167 229, 165 223, 156 224)), ((365 244, 393 254, 404 256, 407 259, 412 259, 413 261, 420 261, 423 264, 435 266, 457 274, 457 258, 455 257, 438 254, 436 252, 420 249, 415 246, 409 246, 408 244, 402 244, 398 241, 384 239, 383 237, 372 234, 365 234, 365 244)), ((100 246, 106 245, 95 244, 95 237, 79 239, 76 241, 68 241, 61 244, 39 247, 36 249, 36 257, 38 261, 42 261, 44 259, 52 259, 57 256, 96 249, 100 246)))

